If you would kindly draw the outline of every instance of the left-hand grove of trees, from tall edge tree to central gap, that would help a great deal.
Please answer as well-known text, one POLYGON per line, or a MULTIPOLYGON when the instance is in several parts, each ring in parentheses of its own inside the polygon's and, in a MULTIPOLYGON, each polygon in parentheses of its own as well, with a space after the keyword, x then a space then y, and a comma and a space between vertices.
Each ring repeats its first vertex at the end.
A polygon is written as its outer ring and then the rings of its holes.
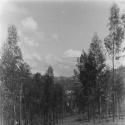
POLYGON ((32 74, 18 46, 16 27, 10 26, 0 60, 1 125, 54 125, 64 108, 65 92, 54 83, 53 68, 44 75, 32 74))

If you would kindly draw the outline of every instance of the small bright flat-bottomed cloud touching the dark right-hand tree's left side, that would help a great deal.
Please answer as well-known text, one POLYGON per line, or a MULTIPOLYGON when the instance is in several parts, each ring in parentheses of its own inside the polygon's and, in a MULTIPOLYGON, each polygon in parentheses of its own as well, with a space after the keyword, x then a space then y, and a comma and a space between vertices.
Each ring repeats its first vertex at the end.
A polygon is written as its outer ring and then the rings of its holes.
POLYGON ((64 57, 79 57, 81 55, 81 51, 69 49, 64 53, 64 57))

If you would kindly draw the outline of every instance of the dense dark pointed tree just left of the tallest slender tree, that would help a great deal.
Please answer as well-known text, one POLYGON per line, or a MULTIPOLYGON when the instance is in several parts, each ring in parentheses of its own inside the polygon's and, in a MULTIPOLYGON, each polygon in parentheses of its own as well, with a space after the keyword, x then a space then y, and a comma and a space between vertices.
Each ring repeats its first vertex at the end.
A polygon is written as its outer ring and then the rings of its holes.
MULTIPOLYGON (((103 75, 105 73, 105 56, 103 53, 102 42, 95 34, 88 53, 83 52, 77 64, 77 75, 82 83, 81 94, 84 101, 83 106, 88 109, 88 119, 94 119, 96 106, 101 108, 101 91, 103 75)), ((100 109, 99 108, 99 109, 100 109)), ((86 109, 86 108, 84 108, 86 109)), ((100 111, 99 111, 100 112, 100 111)))

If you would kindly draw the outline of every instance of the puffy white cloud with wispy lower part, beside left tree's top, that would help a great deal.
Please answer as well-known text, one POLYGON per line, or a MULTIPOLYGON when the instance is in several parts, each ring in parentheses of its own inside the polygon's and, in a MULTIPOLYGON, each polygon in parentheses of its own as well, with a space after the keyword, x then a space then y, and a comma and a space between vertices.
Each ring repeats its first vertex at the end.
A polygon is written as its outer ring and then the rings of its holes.
POLYGON ((20 22, 19 37, 21 39, 21 46, 38 47, 39 41, 44 39, 44 34, 38 31, 38 23, 33 17, 26 17, 20 22))

